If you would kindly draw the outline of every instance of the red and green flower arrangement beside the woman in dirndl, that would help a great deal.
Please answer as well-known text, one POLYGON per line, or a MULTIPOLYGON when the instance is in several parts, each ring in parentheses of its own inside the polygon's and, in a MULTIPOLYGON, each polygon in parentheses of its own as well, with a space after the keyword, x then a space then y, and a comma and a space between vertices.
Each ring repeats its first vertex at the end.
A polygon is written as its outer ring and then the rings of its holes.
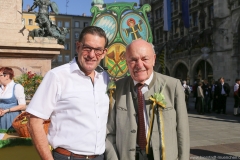
POLYGON ((42 82, 43 76, 32 73, 31 71, 23 73, 21 76, 14 79, 16 83, 24 87, 24 92, 27 99, 31 99, 36 92, 38 86, 42 82))

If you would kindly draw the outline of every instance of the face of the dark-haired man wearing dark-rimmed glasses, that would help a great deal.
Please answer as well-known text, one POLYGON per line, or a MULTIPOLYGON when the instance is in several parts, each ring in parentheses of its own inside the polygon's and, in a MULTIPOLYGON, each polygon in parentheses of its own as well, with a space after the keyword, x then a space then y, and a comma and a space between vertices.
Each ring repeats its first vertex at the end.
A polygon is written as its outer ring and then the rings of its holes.
POLYGON ((105 39, 98 35, 86 34, 82 42, 77 42, 78 62, 86 75, 93 73, 104 58, 107 52, 104 47, 105 39))

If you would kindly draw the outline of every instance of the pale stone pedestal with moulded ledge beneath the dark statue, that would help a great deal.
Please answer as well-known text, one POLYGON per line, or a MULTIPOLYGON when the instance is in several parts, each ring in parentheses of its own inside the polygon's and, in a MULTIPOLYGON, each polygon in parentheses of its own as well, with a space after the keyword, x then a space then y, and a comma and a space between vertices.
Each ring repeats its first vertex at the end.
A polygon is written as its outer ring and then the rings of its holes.
POLYGON ((51 69, 54 56, 64 47, 57 40, 35 37, 32 42, 2 42, 0 44, 0 67, 11 67, 15 76, 23 72, 45 75, 51 69))

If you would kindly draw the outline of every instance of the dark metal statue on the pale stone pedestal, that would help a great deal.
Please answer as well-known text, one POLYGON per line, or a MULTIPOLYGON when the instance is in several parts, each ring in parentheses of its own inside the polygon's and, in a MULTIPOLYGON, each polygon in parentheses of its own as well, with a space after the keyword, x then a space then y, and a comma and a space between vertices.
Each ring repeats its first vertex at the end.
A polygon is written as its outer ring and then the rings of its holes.
POLYGON ((58 43, 64 45, 66 34, 69 32, 66 28, 63 28, 63 31, 49 18, 49 9, 55 14, 58 14, 58 6, 55 2, 50 0, 34 0, 31 8, 28 9, 28 12, 39 8, 38 13, 36 14, 35 22, 38 23, 38 29, 34 29, 29 32, 28 37, 54 37, 58 39, 58 43))

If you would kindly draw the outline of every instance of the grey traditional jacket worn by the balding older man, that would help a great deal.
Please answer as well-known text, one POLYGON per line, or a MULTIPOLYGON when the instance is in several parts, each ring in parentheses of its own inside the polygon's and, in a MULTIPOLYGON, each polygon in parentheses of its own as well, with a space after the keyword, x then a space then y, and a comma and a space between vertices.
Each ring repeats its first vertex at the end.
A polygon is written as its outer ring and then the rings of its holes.
MULTIPOLYGON (((179 80, 154 73, 149 91, 144 94, 147 115, 151 116, 149 97, 163 90, 166 108, 163 110, 166 160, 189 159, 189 125, 185 94, 179 80)), ((114 105, 107 124, 105 157, 107 160, 135 160, 137 139, 137 95, 132 78, 126 77, 116 82, 114 105)), ((157 114, 153 123, 151 146, 154 159, 160 160, 159 130, 157 114)))

